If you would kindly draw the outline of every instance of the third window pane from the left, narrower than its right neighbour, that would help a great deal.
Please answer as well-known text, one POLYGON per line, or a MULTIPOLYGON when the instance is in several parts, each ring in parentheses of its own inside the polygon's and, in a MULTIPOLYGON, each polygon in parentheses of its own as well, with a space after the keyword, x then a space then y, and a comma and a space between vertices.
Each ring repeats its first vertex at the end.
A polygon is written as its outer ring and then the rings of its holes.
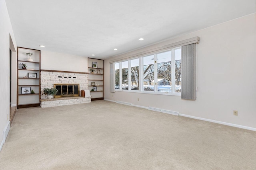
POLYGON ((131 60, 131 89, 139 90, 139 59, 131 60))

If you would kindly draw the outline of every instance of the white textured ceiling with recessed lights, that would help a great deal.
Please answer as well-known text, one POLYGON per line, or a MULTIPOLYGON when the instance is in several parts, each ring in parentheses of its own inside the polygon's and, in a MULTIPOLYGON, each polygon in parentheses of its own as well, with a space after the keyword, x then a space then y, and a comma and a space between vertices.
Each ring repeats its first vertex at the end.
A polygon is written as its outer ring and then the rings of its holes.
POLYGON ((18 46, 99 59, 252 14, 256 6, 255 0, 6 0, 6 4, 18 46), (144 41, 138 40, 141 37, 144 41))

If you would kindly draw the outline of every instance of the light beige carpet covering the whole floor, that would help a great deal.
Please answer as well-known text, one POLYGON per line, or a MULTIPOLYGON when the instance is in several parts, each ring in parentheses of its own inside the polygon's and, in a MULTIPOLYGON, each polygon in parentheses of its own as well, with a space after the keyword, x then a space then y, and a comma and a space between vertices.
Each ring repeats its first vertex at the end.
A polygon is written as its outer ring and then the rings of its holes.
POLYGON ((18 109, 0 169, 255 170, 256 132, 107 101, 18 109))

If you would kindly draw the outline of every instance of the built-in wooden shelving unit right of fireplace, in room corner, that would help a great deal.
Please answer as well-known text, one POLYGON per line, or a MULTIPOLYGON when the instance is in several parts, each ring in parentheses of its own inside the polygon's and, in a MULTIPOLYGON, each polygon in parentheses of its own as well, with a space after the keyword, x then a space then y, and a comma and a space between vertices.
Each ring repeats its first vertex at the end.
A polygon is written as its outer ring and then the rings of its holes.
POLYGON ((88 89, 92 92, 92 101, 104 99, 104 60, 88 58, 88 89), (92 62, 97 63, 97 68, 93 67, 92 62), (90 68, 95 70, 94 74, 89 71, 90 68), (99 73, 97 70, 99 70, 99 73), (92 85, 92 82, 99 85, 92 85), (91 91, 94 86, 97 87, 97 91, 91 91))

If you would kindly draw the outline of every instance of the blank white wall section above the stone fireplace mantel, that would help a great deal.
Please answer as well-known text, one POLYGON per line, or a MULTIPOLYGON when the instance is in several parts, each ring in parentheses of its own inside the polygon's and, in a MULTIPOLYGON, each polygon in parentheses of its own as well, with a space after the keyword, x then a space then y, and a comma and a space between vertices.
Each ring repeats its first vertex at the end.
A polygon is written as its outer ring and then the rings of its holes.
POLYGON ((88 72, 87 58, 41 50, 41 70, 88 72))

